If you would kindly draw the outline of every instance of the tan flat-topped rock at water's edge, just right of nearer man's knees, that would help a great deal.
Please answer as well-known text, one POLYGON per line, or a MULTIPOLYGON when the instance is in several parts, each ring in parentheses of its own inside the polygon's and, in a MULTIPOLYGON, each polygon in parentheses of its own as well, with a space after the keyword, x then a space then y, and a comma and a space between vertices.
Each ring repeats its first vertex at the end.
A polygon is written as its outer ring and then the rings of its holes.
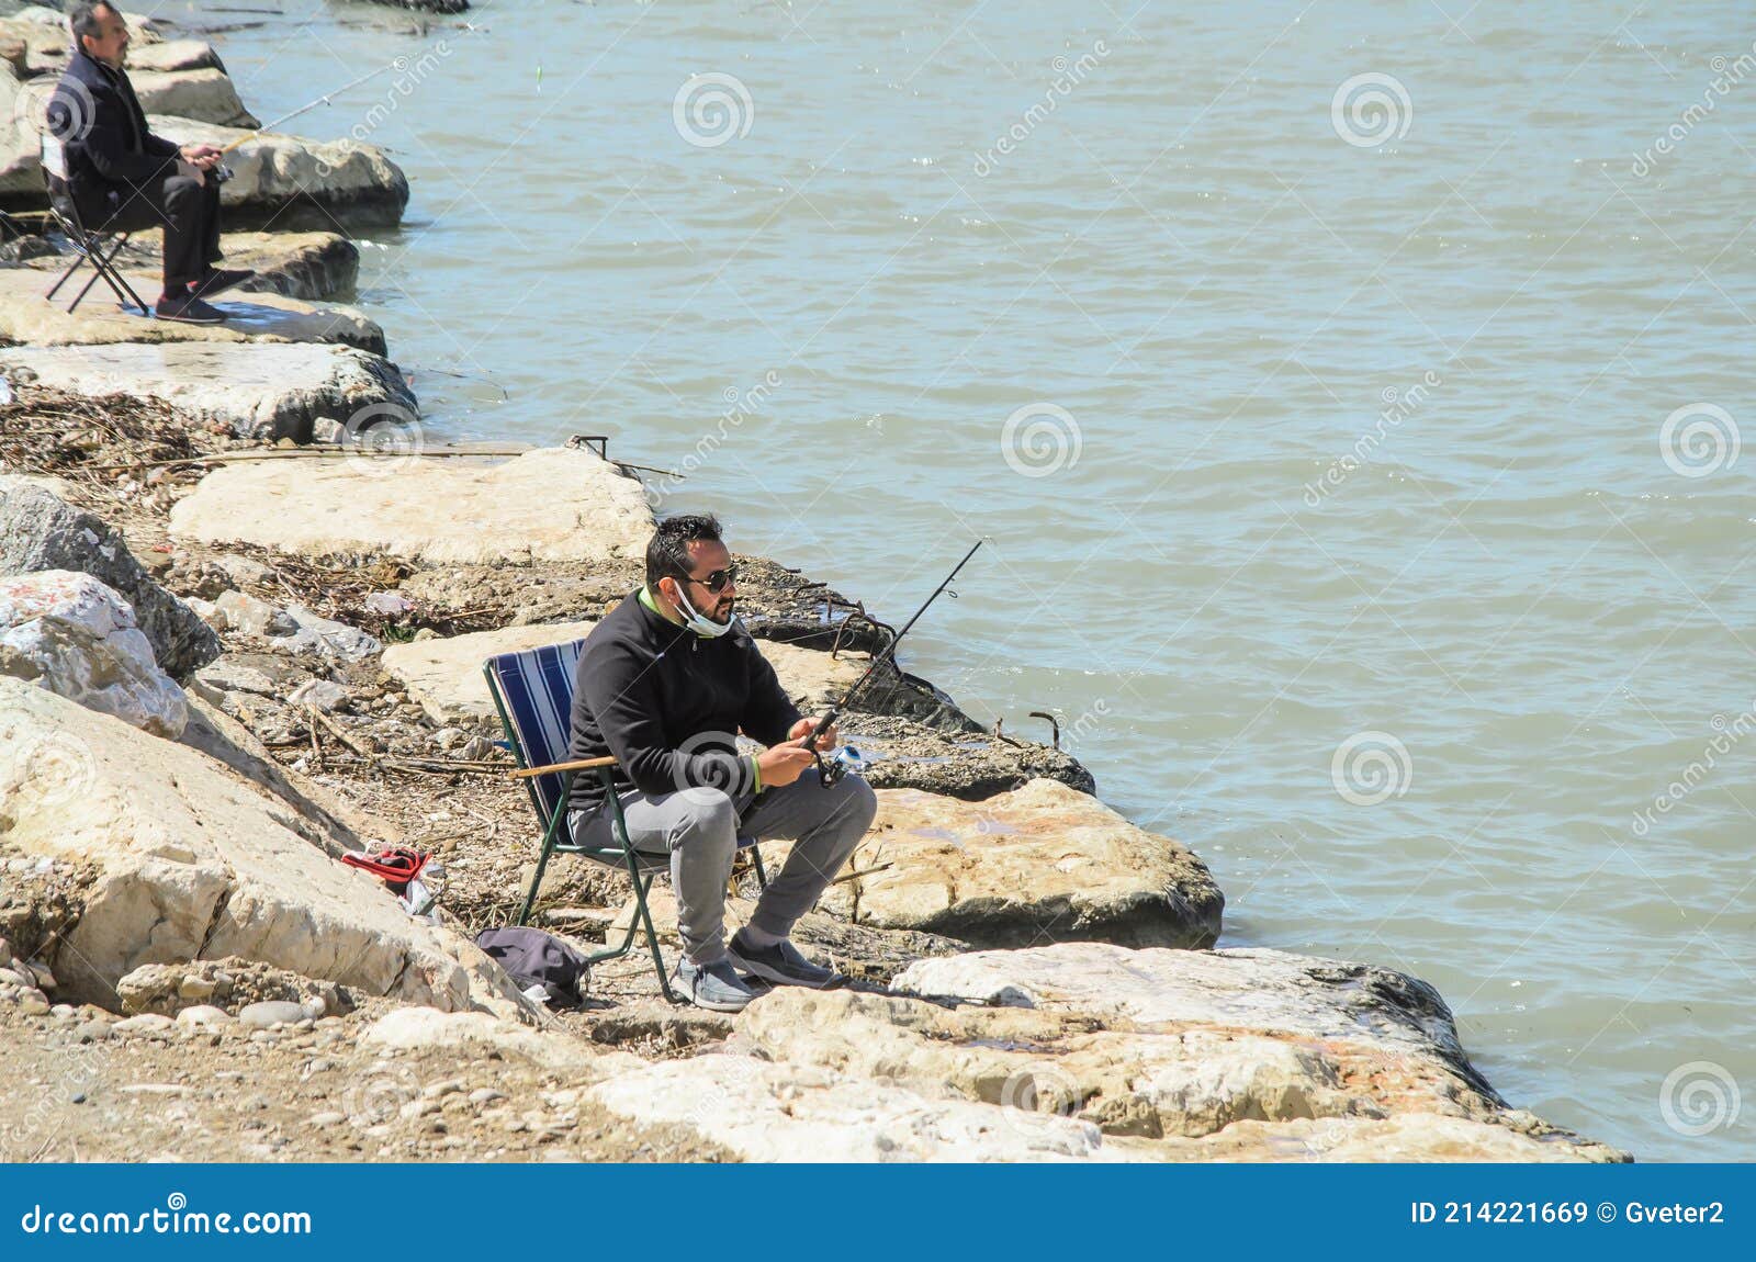
POLYGON ((1052 779, 980 802, 878 790, 878 818, 824 909, 978 946, 1212 946, 1224 895, 1180 843, 1052 779))

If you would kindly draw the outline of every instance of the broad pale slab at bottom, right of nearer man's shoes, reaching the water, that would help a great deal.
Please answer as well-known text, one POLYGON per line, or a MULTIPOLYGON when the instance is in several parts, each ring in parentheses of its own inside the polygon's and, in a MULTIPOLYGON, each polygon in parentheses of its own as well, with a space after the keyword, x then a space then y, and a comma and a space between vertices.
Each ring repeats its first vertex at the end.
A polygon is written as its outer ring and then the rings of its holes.
POLYGON ((1624 1160, 1505 1101, 1450 1011, 1389 969, 1282 951, 1064 944, 918 960, 880 995, 776 992, 773 1057, 1178 1143, 1177 1160, 1624 1160), (1393 1155, 1394 1153, 1394 1155, 1393 1155))

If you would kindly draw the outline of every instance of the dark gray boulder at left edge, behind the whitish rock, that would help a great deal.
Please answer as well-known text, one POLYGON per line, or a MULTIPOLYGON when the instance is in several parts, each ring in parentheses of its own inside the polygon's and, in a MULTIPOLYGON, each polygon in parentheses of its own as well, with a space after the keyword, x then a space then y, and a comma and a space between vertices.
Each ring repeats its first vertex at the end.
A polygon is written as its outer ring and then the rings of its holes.
POLYGON ((81 570, 133 606, 158 665, 181 679, 220 656, 220 637, 162 588, 104 521, 23 477, 0 474, 0 574, 81 570))

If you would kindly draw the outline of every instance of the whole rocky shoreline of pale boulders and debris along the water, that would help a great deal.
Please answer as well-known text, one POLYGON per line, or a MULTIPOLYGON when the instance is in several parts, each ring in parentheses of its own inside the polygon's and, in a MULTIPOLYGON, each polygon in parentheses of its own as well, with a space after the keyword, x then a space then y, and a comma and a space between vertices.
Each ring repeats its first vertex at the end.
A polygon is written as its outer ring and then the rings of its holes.
MULTIPOLYGON (((53 82, 53 19, 0 19, 14 97, 53 82)), ((153 107, 188 111, 155 126, 249 118, 211 46, 153 35, 153 107)), ((537 844, 479 667, 637 583, 648 495, 585 442, 423 437, 385 332, 330 302, 356 249, 286 230, 393 223, 385 154, 237 167, 228 226, 274 232, 227 235, 260 272, 227 328, 51 307, 47 237, 0 263, 0 1158, 1626 1160, 1510 1108, 1426 983, 1212 950, 1196 853, 904 670, 843 723, 880 814, 799 927, 846 990, 725 1018, 632 955, 537 1007, 472 944, 537 844), (383 843, 444 862, 435 918, 337 862, 383 843)), ((0 154, 21 223, 33 188, 0 154)), ((890 611, 739 560, 788 692, 836 697, 890 611)), ((590 950, 629 914, 560 857, 536 923, 590 950)))

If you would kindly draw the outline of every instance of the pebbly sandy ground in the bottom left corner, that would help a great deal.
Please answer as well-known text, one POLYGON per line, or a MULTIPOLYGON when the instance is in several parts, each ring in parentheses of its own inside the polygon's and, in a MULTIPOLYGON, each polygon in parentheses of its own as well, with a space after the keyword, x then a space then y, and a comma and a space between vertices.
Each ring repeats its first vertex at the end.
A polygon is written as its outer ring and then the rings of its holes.
POLYGON ((0 1002, 0 1160, 729 1160, 515 1055, 362 1046, 383 1007, 209 1025, 0 1002))

